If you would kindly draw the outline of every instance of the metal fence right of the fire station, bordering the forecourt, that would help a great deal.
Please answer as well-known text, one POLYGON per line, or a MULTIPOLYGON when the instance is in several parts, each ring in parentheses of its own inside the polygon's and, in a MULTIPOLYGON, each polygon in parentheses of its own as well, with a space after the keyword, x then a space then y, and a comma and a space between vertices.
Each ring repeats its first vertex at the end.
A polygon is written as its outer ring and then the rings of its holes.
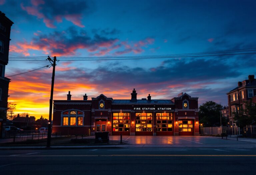
MULTIPOLYGON (((256 128, 255 128, 256 129, 256 128)), ((240 135, 240 127, 234 126, 234 127, 204 127, 203 128, 203 135, 220 135, 221 134, 227 135, 227 136, 237 136, 240 135)))

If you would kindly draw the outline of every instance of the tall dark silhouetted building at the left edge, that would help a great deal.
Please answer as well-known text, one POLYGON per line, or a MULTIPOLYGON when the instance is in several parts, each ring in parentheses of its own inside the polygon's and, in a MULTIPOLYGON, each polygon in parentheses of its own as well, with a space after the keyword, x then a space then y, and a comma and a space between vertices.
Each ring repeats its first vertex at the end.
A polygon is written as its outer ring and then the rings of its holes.
POLYGON ((5 76, 5 66, 8 64, 10 33, 13 22, 0 11, 0 138, 4 137, 6 111, 10 79, 5 76))

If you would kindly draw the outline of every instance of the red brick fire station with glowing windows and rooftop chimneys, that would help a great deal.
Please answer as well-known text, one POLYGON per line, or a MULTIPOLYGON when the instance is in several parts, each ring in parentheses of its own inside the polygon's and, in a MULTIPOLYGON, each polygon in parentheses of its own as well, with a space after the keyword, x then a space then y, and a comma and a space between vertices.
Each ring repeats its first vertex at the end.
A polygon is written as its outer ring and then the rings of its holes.
POLYGON ((53 132, 112 135, 199 135, 198 98, 181 93, 171 100, 114 100, 101 94, 92 100, 54 100, 53 132))

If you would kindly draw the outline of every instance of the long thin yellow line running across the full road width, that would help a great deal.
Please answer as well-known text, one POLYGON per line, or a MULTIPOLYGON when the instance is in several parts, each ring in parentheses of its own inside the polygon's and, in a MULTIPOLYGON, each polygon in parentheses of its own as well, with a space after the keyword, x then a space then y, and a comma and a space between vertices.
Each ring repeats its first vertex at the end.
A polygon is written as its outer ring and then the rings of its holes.
MULTIPOLYGON (((256 157, 256 155, 169 155, 169 154, 113 154, 113 155, 19 155, 15 157, 256 157)), ((14 156, 0 156, 0 157, 14 157, 14 156)))

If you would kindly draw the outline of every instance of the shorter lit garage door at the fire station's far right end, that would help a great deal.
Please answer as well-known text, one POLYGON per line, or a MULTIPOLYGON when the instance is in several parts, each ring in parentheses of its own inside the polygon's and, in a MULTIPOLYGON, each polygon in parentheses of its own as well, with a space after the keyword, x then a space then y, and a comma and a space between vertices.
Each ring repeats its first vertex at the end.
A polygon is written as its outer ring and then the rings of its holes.
POLYGON ((193 129, 194 129, 193 120, 188 120, 188 119, 179 120, 179 135, 180 136, 194 135, 193 129))

